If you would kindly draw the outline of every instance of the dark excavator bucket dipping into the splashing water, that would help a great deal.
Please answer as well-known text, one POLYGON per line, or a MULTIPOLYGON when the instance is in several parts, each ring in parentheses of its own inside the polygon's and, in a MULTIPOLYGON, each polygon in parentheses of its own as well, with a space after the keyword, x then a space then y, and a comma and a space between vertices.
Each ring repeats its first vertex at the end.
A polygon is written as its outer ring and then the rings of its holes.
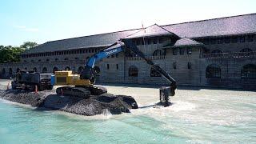
POLYGON ((159 88, 160 92, 160 104, 162 106, 170 106, 171 102, 169 102, 169 97, 174 96, 175 89, 171 86, 162 86, 159 88))

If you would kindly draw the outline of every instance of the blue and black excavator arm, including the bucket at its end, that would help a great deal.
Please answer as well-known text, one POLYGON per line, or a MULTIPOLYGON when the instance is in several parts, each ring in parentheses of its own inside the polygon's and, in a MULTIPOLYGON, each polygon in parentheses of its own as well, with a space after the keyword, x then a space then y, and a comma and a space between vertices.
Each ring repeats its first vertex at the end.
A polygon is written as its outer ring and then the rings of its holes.
POLYGON ((165 70, 158 65, 155 65, 150 59, 146 58, 145 54, 142 53, 141 50, 132 42, 130 39, 122 39, 119 42, 115 42, 111 46, 108 46, 102 50, 99 50, 98 53, 94 54, 89 60, 86 62, 85 70, 82 70, 80 74, 81 79, 90 79, 91 82, 94 82, 94 75, 98 74, 99 70, 95 70, 94 64, 103 58, 107 58, 112 54, 118 54, 124 50, 130 50, 137 54, 138 57, 144 59, 147 64, 152 66, 154 70, 157 70, 159 74, 162 74, 164 78, 166 78, 170 82, 170 86, 162 86, 160 88, 160 100, 161 102, 165 102, 165 106, 169 105, 168 98, 169 96, 174 96, 175 90, 177 88, 176 81, 174 78, 170 77, 169 74, 166 73, 165 70), (162 100, 163 99, 163 100, 162 100))

